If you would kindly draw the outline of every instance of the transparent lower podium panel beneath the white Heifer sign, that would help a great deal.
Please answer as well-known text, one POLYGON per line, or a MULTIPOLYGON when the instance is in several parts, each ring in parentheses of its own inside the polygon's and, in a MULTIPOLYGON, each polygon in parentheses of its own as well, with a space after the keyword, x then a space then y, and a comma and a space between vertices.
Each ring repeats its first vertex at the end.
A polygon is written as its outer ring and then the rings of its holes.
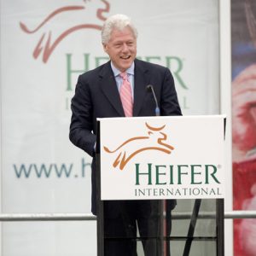
POLYGON ((222 200, 104 201, 102 255, 223 255, 218 252, 224 239, 218 234, 219 203, 222 200))

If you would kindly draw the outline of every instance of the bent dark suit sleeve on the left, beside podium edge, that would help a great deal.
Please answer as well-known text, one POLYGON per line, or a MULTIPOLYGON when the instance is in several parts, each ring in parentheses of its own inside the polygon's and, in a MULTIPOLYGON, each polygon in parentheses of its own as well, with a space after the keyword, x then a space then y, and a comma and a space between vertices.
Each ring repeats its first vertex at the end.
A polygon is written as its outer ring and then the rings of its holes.
POLYGON ((72 118, 69 131, 70 141, 94 156, 96 135, 93 134, 93 104, 90 97, 89 84, 79 76, 75 95, 71 101, 72 118))

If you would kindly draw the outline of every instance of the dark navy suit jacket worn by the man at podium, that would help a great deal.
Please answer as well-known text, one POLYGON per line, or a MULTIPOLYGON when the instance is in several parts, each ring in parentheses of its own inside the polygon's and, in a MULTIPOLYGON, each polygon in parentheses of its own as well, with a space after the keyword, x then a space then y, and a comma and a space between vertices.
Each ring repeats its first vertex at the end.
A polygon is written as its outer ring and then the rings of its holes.
MULTIPOLYGON (((166 67, 135 60, 133 116, 154 116, 155 102, 148 84, 154 86, 160 115, 181 115, 172 73, 166 67)), ((96 118, 124 117, 125 113, 110 61, 79 76, 72 99, 70 140, 93 157, 92 212, 96 214, 96 118)))

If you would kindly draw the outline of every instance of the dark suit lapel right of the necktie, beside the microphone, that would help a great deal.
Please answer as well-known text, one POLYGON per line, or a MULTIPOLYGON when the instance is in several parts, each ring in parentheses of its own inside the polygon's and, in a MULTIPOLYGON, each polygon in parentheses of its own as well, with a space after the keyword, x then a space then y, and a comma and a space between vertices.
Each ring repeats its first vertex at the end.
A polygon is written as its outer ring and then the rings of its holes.
POLYGON ((135 76, 134 76, 134 102, 133 116, 138 113, 143 105, 143 99, 146 96, 146 87, 149 83, 148 69, 144 68, 141 61, 135 60, 135 76))

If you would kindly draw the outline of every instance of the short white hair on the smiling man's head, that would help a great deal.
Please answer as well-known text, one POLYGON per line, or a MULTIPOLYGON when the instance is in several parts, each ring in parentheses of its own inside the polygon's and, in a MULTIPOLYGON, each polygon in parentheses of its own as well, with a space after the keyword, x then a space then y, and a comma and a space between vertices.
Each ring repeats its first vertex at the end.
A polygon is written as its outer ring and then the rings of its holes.
POLYGON ((126 15, 113 15, 110 16, 103 24, 102 27, 102 44, 107 44, 113 29, 122 31, 126 26, 131 28, 131 31, 135 38, 137 38, 137 29, 131 23, 131 19, 126 15))

